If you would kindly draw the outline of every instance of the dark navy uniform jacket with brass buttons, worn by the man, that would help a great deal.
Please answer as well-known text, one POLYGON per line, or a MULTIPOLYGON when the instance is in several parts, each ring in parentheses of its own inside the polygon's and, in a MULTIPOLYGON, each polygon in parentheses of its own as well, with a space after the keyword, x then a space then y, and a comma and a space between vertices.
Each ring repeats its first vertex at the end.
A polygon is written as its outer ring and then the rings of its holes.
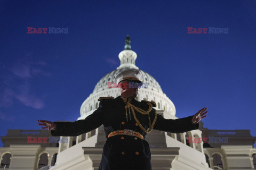
MULTIPOLYGON (((145 102, 137 101, 134 98, 130 101, 136 107, 147 111, 149 106, 145 102)), ((148 142, 145 140, 146 132, 135 122, 131 111, 131 120, 127 109, 128 121, 125 114, 125 103, 121 96, 115 99, 100 100, 99 107, 84 120, 75 122, 54 122, 56 130, 51 130, 52 136, 73 137, 90 132, 103 124, 107 141, 103 147, 102 159, 99 170, 125 170, 140 169, 151 170, 151 153, 148 142), (123 123, 122 123, 123 122, 123 123), (108 134, 117 130, 130 129, 143 135, 144 140, 132 135, 114 135, 108 138, 108 134), (122 138, 123 137, 123 138, 122 138), (137 154, 135 154, 137 152, 137 154)), ((155 118, 155 109, 149 113, 151 124, 155 118)), ((149 128, 148 115, 142 115, 134 111, 137 119, 145 128, 149 128)), ((199 124, 193 125, 192 116, 178 118, 176 120, 165 119, 157 114, 154 130, 183 133, 199 128, 199 124)))

